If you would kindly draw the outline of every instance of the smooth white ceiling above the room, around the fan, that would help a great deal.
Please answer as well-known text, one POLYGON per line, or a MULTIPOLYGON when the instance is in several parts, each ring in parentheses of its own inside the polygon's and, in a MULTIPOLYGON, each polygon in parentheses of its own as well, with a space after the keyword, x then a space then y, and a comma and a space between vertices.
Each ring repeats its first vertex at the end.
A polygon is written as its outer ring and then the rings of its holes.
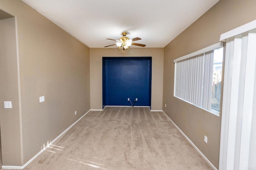
POLYGON ((219 0, 22 1, 88 47, 102 48, 124 31, 146 47, 165 47, 219 0))

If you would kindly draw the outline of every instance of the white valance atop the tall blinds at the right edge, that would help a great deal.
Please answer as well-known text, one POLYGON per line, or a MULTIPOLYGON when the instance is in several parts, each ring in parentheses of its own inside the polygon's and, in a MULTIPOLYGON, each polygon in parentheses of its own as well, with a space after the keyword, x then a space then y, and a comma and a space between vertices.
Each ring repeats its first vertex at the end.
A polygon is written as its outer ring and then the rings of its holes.
POLYGON ((220 41, 226 41, 226 39, 230 37, 234 37, 236 35, 242 34, 244 32, 250 31, 252 29, 255 29, 256 20, 251 21, 249 23, 246 23, 240 27, 237 27, 235 29, 232 29, 226 33, 223 33, 220 35, 220 41))

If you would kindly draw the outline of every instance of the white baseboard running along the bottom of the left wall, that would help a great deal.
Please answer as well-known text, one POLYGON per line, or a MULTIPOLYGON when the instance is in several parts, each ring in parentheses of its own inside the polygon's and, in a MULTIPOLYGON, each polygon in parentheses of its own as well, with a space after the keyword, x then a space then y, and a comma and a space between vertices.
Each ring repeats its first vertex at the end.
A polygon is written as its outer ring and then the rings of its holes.
MULTIPOLYGON (((91 110, 89 110, 89 111, 91 111, 91 110)), ((38 152, 33 158, 31 158, 23 166, 4 166, 4 165, 2 165, 2 169, 18 169, 18 170, 21 170, 21 169, 25 168, 28 164, 30 164, 30 162, 32 162, 37 156, 39 156, 44 150, 46 150, 48 147, 50 147, 50 145, 52 145, 52 143, 54 143, 57 139, 59 139, 64 133, 66 133, 71 127, 73 127, 78 121, 80 121, 87 113, 89 113, 89 111, 87 111, 84 115, 82 115, 82 117, 80 117, 77 121, 75 121, 72 125, 70 125, 70 127, 68 127, 64 132, 62 132, 60 135, 58 135, 58 137, 56 137, 52 142, 47 144, 46 147, 44 147, 42 150, 40 150, 40 152, 38 152)))

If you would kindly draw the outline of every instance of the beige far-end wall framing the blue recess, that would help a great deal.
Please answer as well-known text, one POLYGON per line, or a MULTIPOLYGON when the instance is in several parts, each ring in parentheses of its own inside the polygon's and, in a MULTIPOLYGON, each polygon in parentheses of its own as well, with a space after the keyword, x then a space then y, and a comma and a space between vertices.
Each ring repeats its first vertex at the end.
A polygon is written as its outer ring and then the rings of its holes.
POLYGON ((117 48, 90 49, 91 109, 102 109, 102 57, 152 57, 151 109, 162 110, 163 48, 132 48, 125 54, 117 48))

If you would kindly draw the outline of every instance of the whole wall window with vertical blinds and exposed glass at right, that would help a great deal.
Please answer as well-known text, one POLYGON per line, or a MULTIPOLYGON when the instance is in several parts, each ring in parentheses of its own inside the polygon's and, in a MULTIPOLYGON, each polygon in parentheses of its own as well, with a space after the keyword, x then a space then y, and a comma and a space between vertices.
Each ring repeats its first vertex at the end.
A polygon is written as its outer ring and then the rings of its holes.
POLYGON ((174 96, 219 115, 222 43, 174 60, 174 96))

